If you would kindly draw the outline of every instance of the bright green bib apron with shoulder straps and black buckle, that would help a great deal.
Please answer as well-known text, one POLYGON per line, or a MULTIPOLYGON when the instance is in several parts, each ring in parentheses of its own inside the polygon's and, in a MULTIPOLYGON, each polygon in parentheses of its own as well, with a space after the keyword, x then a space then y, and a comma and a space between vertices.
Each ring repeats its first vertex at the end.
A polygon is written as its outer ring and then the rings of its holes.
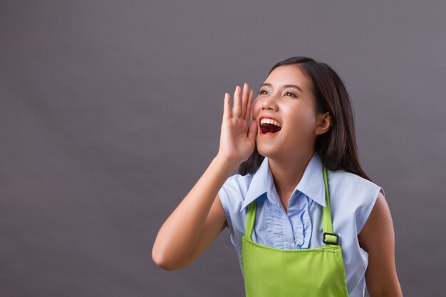
POLYGON ((333 234, 327 170, 323 166, 326 207, 323 207, 323 243, 315 249, 276 249, 251 240, 256 200, 248 205, 242 237, 242 269, 247 297, 348 297, 338 234, 333 234))

